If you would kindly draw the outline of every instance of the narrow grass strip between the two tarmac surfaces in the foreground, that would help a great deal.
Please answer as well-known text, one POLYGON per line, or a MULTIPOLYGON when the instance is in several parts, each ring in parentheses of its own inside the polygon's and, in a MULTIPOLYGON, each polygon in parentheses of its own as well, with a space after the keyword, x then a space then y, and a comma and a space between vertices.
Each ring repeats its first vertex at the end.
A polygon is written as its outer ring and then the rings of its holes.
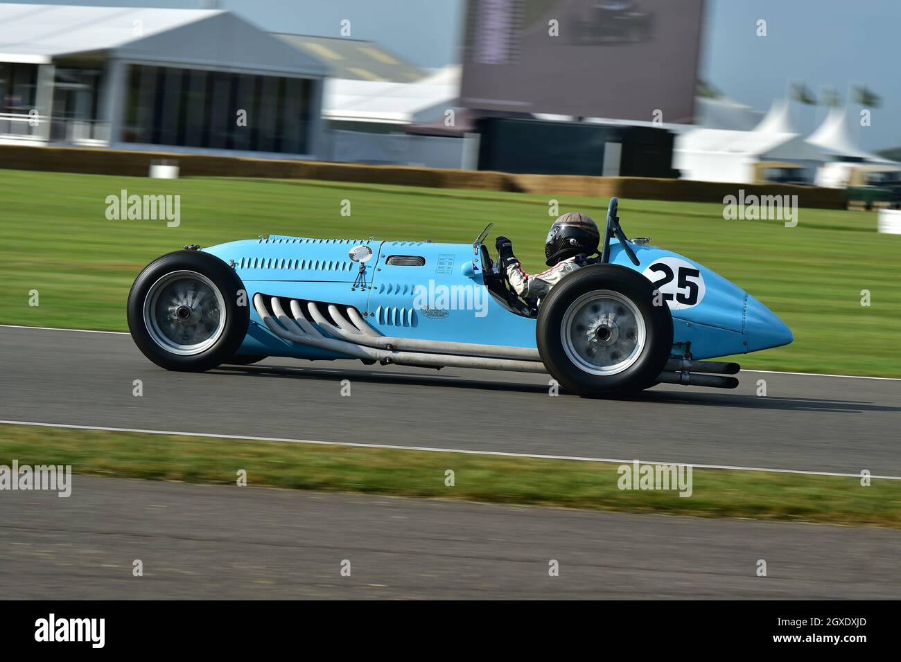
POLYGON ((901 528, 901 482, 889 480, 695 469, 693 494, 679 497, 620 490, 617 465, 600 462, 2 425, 0 464, 13 459, 96 476, 235 485, 244 469, 255 486, 901 528))

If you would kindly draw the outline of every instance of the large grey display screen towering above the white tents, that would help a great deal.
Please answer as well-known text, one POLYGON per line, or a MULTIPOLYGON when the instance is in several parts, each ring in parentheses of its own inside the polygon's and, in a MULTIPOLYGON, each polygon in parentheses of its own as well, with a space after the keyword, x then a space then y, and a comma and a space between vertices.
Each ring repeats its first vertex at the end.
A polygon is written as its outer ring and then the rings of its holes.
POLYGON ((704 0, 469 0, 461 104, 691 122, 704 0))

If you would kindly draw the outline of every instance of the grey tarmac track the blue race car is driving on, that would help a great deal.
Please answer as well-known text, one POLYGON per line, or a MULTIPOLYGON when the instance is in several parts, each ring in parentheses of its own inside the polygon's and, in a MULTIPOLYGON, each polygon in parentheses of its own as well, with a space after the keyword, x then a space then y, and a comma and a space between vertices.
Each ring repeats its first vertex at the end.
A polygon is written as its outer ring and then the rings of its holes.
POLYGON ((174 373, 127 334, 3 327, 0 348, 7 421, 901 476, 901 380, 743 372, 733 391, 604 401, 552 397, 543 375, 356 361, 174 373))

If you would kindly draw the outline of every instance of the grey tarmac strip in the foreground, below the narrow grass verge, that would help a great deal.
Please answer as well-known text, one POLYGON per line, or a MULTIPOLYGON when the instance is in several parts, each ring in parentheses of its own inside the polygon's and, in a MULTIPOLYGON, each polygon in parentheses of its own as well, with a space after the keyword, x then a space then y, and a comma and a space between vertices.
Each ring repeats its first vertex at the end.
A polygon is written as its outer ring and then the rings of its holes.
POLYGON ((901 596, 887 529, 94 476, 0 504, 5 598, 901 596))

